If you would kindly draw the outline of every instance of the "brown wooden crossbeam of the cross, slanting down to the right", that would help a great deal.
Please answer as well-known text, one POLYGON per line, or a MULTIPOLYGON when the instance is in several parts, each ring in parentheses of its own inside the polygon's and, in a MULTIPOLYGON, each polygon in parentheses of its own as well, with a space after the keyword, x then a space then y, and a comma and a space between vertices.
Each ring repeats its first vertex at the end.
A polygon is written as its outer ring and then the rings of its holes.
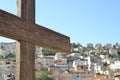
POLYGON ((69 37, 37 24, 26 23, 3 10, 0 10, 0 36, 27 41, 55 51, 70 52, 69 37))

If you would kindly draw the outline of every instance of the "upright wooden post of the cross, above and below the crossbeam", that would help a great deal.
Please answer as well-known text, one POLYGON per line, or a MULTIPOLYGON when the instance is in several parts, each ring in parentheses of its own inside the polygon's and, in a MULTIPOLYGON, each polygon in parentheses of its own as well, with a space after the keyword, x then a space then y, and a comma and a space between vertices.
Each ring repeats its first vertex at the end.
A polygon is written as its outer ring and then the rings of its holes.
MULTIPOLYGON (((17 15, 23 21, 35 23, 35 0, 17 0, 17 4, 17 15)), ((16 80, 35 80, 34 44, 18 40, 16 48, 16 80)))

